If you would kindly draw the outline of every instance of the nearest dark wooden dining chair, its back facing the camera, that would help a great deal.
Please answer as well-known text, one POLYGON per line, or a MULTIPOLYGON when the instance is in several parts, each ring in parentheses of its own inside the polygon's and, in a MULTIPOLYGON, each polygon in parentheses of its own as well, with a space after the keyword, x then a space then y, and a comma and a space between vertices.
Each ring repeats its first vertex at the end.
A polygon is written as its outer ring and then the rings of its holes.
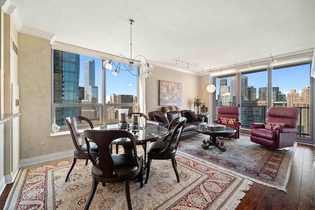
POLYGON ((137 156, 136 143, 133 135, 123 130, 85 130, 84 137, 88 146, 89 157, 93 163, 91 170, 93 185, 85 209, 89 209, 94 197, 98 182, 116 183, 125 182, 125 194, 128 210, 131 210, 129 180, 138 178, 143 187, 143 159, 137 156), (112 154, 110 144, 113 140, 128 138, 131 140, 132 154, 112 154), (90 145, 93 141, 99 150, 99 157, 92 155, 90 145))

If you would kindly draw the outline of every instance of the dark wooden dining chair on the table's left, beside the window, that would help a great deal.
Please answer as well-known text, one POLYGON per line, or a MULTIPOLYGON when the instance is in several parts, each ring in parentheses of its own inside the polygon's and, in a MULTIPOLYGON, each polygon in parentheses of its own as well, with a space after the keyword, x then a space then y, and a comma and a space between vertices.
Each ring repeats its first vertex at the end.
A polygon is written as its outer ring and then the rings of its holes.
MULTIPOLYGON (((93 123, 91 122, 90 119, 83 117, 83 116, 66 117, 64 119, 64 121, 65 121, 65 124, 69 128, 71 138, 72 138, 72 141, 73 141, 73 144, 75 147, 75 150, 73 152, 73 163, 72 163, 72 166, 71 166, 71 168, 70 168, 70 170, 69 170, 69 172, 65 178, 65 181, 67 181, 77 159, 85 159, 86 160, 85 165, 88 165, 88 160, 89 160, 88 148, 87 148, 87 145, 85 143, 82 143, 82 138, 81 138, 81 135, 78 131, 77 124, 78 124, 78 122, 83 121, 83 122, 89 123, 91 129, 93 129, 94 126, 93 126, 93 123)), ((98 148, 97 148, 96 144, 91 143, 90 146, 91 146, 91 150, 93 151, 93 154, 95 156, 98 156, 98 148)))

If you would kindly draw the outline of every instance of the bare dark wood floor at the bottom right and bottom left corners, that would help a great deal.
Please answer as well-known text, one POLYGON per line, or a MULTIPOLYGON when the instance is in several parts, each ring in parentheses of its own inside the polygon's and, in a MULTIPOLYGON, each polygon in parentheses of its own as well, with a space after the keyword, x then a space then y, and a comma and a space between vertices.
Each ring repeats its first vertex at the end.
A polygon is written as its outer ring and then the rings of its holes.
MULTIPOLYGON (((315 147, 298 144, 287 184, 288 193, 254 183, 236 210, 315 210, 315 147)), ((0 209, 12 184, 0 196, 0 209)))

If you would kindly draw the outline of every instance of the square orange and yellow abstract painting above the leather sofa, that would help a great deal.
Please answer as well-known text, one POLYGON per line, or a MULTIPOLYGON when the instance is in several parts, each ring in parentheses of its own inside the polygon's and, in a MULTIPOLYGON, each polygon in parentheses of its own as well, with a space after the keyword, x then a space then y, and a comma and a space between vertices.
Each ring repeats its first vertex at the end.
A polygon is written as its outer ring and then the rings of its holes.
POLYGON ((159 80, 159 105, 182 105, 182 83, 159 80))

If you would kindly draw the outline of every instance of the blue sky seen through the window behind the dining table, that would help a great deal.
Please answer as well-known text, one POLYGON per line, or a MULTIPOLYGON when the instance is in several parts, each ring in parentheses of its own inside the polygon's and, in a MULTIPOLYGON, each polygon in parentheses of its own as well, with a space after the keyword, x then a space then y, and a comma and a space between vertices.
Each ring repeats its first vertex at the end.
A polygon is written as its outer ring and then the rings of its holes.
MULTIPOLYGON (((84 87, 84 61, 95 60, 95 86, 98 87, 98 99, 101 96, 101 69, 102 60, 89 56, 80 55, 80 79, 79 86, 84 87)), ((123 67, 123 66, 121 66, 123 67)), ((114 70, 115 66, 113 66, 114 70)), ((136 69, 133 70, 136 74, 136 69)), ((110 74, 111 70, 106 70, 106 102, 110 100, 110 95, 137 95, 137 76, 132 75, 128 71, 121 70, 119 76, 110 74)))

